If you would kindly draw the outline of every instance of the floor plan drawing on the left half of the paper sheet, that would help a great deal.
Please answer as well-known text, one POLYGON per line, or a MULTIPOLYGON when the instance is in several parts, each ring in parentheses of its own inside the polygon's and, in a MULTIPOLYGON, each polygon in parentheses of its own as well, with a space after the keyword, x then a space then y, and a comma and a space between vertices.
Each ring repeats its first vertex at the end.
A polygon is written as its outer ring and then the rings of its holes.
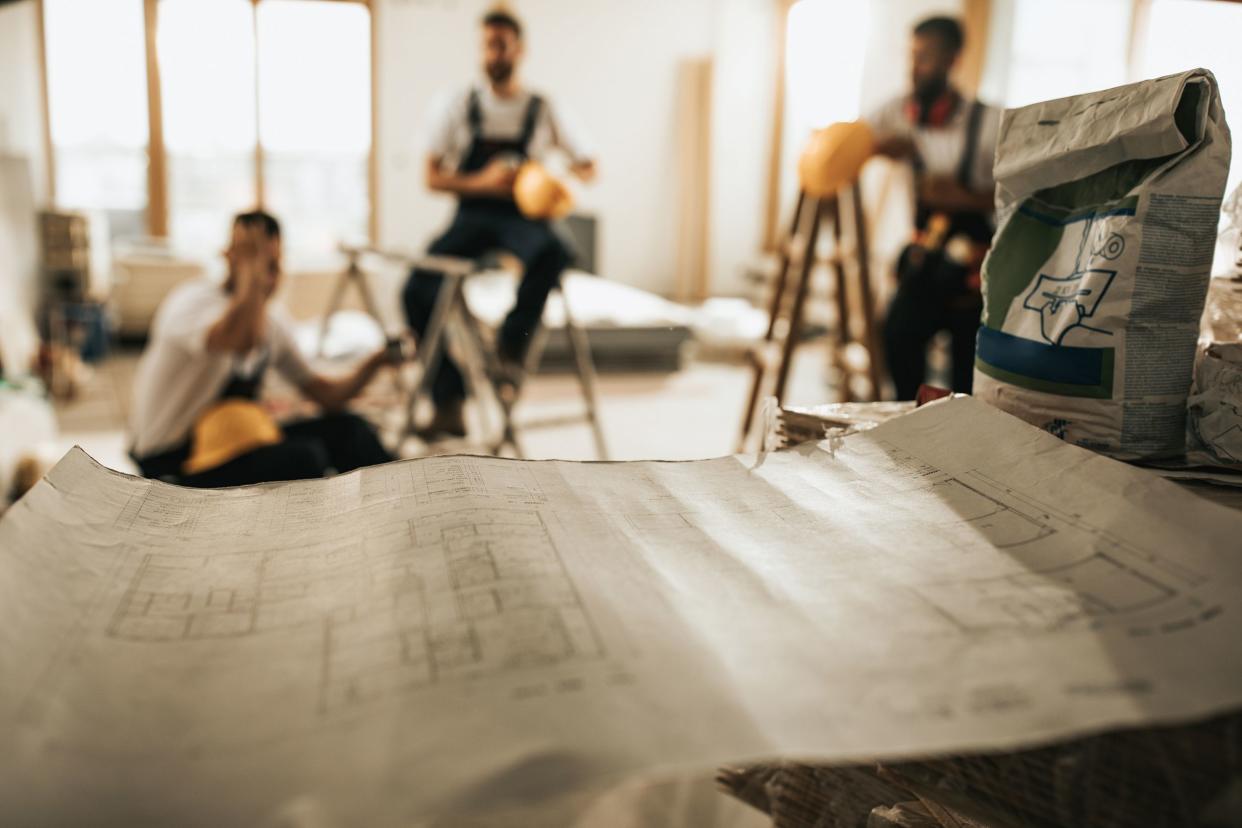
POLYGON ((605 655, 538 511, 450 508, 402 534, 404 551, 360 539, 301 554, 148 554, 106 632, 176 643, 319 627, 320 714, 605 655))

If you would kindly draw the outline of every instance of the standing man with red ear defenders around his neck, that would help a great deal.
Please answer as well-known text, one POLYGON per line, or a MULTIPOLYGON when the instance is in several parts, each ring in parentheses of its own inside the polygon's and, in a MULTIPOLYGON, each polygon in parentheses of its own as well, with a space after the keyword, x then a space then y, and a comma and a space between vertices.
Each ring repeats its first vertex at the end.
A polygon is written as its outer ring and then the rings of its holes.
POLYGON ((927 346, 951 339, 953 390, 969 392, 982 309, 980 267, 991 241, 992 161, 1000 110, 953 87, 961 25, 930 17, 910 38, 909 94, 866 118, 876 150, 909 161, 917 187, 915 233, 898 261, 898 287, 884 323, 884 351, 898 400, 913 400, 927 372, 927 346))

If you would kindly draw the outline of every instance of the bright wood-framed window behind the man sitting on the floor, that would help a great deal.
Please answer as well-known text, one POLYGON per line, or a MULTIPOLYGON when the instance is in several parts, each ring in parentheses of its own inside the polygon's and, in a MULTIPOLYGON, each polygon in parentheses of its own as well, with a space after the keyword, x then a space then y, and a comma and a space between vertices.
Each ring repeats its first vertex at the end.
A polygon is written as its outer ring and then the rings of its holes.
MULTIPOLYGON (((361 2, 155 0, 168 232, 215 258, 262 204, 294 266, 368 235, 371 24, 361 2)), ((45 0, 48 103, 65 209, 149 226, 144 0, 45 0)), ((156 144, 158 146, 158 144, 156 144)), ((156 149, 156 151, 159 151, 156 149)))

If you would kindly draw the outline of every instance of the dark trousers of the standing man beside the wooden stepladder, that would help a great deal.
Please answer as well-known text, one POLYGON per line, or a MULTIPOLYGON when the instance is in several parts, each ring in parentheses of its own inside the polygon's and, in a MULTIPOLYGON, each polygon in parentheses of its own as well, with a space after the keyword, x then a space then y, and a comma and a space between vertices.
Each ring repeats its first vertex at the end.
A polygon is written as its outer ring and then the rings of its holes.
POLYGON ((927 376, 927 348, 938 331, 953 339, 953 390, 970 394, 975 376, 975 336, 982 309, 965 279, 932 267, 898 264, 900 281, 884 320, 884 358, 898 400, 913 400, 927 376))

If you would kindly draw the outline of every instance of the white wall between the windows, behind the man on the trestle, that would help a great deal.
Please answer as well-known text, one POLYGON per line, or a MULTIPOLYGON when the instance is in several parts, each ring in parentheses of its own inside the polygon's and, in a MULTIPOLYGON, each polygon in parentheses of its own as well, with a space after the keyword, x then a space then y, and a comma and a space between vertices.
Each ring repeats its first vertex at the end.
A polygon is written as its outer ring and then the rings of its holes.
MULTIPOLYGON (((478 74, 488 0, 380 0, 380 241, 419 247, 452 202, 422 182, 427 108, 478 74)), ((758 251, 773 74, 770 0, 522 0, 527 83, 570 109, 600 163, 580 206, 600 221, 600 267, 661 294, 677 283, 677 71, 713 56, 709 261, 717 289, 758 251), (768 29, 763 26, 768 25, 768 29)))

